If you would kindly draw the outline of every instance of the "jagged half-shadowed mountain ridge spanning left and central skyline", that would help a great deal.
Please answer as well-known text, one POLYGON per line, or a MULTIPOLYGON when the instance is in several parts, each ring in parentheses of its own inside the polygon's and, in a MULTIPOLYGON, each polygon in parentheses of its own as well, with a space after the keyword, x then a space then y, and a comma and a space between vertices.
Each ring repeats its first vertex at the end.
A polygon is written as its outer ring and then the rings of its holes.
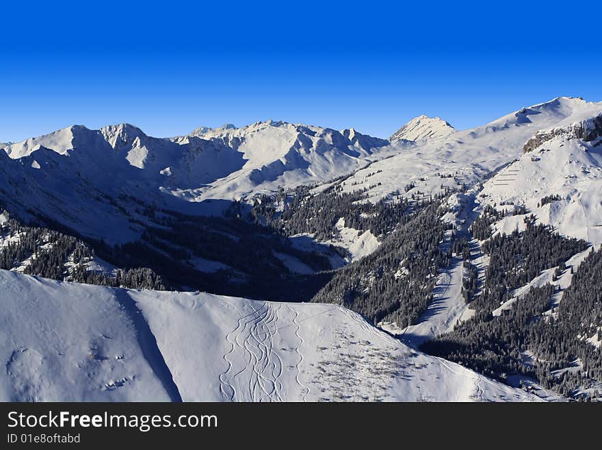
MULTIPOLYGON (((44 149, 70 157, 83 153, 89 164, 117 177, 131 179, 135 174, 155 192, 188 201, 239 199, 276 186, 324 182, 398 151, 386 140, 354 129, 338 132, 273 121, 242 128, 200 127, 176 138, 153 138, 129 124, 98 130, 73 125, 4 149, 12 159, 35 159, 44 149)), ((88 169, 84 161, 77 166, 79 171, 88 169)))

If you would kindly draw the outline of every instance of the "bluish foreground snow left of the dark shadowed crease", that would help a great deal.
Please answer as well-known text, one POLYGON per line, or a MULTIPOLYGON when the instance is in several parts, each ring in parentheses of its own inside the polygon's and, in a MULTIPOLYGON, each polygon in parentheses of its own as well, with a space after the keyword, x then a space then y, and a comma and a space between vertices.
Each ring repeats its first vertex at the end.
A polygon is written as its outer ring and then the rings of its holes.
POLYGON ((168 401, 116 290, 0 271, 1 401, 168 401))

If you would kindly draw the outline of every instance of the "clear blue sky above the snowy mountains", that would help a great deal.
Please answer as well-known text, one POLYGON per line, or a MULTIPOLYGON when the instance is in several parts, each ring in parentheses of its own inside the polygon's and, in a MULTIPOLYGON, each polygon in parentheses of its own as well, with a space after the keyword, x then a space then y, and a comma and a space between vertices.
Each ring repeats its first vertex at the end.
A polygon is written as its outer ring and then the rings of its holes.
POLYGON ((0 142, 269 118, 387 137, 419 114, 462 129, 559 95, 602 100, 588 1, 6 3, 0 142))

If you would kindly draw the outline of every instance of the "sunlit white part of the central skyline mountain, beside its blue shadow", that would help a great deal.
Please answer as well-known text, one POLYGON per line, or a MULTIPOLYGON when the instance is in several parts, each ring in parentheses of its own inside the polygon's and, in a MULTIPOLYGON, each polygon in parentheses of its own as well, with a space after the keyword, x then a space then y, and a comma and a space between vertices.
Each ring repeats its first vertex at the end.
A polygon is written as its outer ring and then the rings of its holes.
POLYGON ((182 189, 174 195, 194 199, 240 199, 278 186, 324 182, 346 175, 369 162, 393 155, 402 145, 391 147, 386 140, 345 129, 341 132, 312 125, 287 122, 257 122, 246 127, 224 126, 197 129, 176 138, 185 145, 196 139, 225 142, 241 156, 236 170, 202 188, 182 189))

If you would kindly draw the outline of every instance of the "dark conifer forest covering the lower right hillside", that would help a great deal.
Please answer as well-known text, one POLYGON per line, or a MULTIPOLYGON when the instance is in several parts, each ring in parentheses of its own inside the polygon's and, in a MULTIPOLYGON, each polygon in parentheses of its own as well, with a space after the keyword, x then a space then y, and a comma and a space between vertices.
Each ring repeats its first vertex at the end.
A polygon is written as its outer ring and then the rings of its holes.
MULTIPOLYGON (((492 212, 484 214, 490 217, 492 212)), ((584 240, 535 225, 533 216, 525 220, 524 232, 484 242, 490 262, 483 286, 470 303, 475 316, 421 349, 502 381, 518 374, 562 395, 587 399, 584 389, 602 387, 601 348, 586 340, 602 338, 602 250, 581 262, 556 310, 551 310, 551 297, 558 287, 546 284, 531 288, 500 316, 493 316, 492 310, 512 299, 515 288, 547 268, 555 267, 553 279, 572 271, 564 262, 588 248, 584 240)))

